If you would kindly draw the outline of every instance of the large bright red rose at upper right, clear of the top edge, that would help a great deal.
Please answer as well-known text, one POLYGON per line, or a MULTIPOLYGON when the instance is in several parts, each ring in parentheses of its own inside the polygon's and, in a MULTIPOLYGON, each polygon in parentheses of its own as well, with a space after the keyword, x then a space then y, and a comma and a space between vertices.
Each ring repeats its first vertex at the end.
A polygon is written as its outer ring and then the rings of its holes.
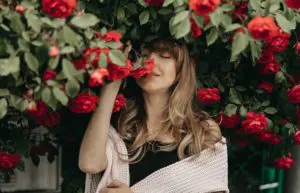
POLYGON ((278 26, 270 16, 256 16, 248 23, 248 29, 254 39, 268 40, 277 34, 278 26))

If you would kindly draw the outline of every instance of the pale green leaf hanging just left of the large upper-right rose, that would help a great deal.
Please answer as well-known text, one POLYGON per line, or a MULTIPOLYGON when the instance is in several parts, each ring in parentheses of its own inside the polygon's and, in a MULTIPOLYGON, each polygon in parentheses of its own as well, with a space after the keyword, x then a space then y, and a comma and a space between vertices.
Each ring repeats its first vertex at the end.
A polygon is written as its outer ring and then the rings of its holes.
POLYGON ((232 52, 231 57, 238 56, 242 53, 249 44, 249 37, 244 33, 238 33, 234 36, 234 40, 232 42, 232 52))

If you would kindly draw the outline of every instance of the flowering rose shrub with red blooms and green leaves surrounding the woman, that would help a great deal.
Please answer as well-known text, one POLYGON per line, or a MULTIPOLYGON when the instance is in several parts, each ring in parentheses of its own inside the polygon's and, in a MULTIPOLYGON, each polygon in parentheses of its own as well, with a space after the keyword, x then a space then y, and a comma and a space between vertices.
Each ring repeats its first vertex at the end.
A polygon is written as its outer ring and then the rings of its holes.
MULTIPOLYGON (((189 45, 195 99, 228 140, 240 148, 259 143, 257 151, 269 152, 265 164, 289 168, 289 148, 300 141, 299 9, 298 0, 2 0, 0 119, 17 109, 58 135, 61 111, 90 113, 101 100, 95 88, 152 71, 153 61, 132 57, 135 45, 172 35, 189 45)), ((113 111, 125 104, 120 94, 113 111)), ((40 152, 31 128, 6 130, 4 173, 40 152)))

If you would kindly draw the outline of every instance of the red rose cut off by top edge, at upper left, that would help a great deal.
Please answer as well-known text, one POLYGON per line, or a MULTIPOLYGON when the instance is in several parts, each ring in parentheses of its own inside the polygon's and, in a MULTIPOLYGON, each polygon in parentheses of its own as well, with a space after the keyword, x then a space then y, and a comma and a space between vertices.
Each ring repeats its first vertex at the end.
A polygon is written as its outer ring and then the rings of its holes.
POLYGON ((75 7, 76 0, 42 0, 43 12, 55 18, 69 17, 75 7))

